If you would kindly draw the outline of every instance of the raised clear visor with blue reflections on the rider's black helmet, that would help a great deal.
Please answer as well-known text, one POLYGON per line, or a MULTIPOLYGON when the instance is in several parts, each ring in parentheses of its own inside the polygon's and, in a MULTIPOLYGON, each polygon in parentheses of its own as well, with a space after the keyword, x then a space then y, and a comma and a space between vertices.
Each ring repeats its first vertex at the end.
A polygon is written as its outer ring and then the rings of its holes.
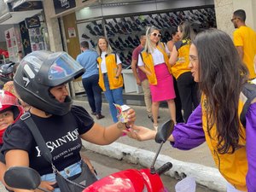
POLYGON ((61 80, 67 79, 79 70, 83 69, 79 63, 69 55, 62 54, 58 59, 49 67, 48 79, 61 80))

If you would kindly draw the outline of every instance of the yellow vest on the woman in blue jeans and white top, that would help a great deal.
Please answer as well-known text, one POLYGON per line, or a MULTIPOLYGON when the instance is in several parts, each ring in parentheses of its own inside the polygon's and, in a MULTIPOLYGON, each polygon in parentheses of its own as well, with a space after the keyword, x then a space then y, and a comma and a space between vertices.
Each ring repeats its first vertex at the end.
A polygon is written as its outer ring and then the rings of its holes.
MULTIPOLYGON (((115 54, 109 54, 106 56, 106 67, 108 72, 108 81, 110 90, 118 89, 119 87, 123 87, 123 77, 119 75, 118 79, 115 79, 115 75, 118 70, 118 65, 115 61, 115 54)), ((103 74, 102 74, 102 57, 97 58, 99 64, 99 85, 103 91, 106 91, 103 74)))

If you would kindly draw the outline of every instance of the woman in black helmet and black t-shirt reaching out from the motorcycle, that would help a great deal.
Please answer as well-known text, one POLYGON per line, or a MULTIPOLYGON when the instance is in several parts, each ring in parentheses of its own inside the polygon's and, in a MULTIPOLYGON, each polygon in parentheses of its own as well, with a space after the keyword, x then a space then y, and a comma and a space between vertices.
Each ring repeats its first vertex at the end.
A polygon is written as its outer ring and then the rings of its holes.
MULTIPOLYGON (((122 131, 134 124, 136 114, 129 109, 128 122, 104 127, 94 122, 87 111, 72 105, 67 83, 84 73, 84 68, 65 52, 34 51, 20 61, 15 73, 15 90, 31 105, 29 113, 44 137, 53 163, 64 177, 81 172, 81 139, 99 145, 113 143, 122 131)), ((41 188, 54 189, 55 174, 41 155, 32 133, 22 120, 10 125, 3 137, 2 153, 7 167, 30 166, 42 178, 41 188)), ((15 189, 15 192, 25 192, 15 189)))

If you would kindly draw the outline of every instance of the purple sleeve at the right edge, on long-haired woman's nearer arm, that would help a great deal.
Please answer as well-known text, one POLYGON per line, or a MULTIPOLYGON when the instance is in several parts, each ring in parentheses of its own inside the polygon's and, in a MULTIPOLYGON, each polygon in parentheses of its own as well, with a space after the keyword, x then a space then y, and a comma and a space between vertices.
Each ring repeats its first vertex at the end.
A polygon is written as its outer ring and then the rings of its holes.
POLYGON ((246 134, 247 134, 247 190, 256 192, 256 102, 247 110, 246 115, 246 134))

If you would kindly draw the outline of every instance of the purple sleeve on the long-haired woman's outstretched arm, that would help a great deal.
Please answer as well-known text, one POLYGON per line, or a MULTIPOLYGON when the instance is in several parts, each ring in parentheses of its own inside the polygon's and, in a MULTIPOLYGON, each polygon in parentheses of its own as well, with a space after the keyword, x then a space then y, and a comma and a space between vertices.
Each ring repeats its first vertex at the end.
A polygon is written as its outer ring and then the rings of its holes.
POLYGON ((205 132, 202 129, 201 105, 189 116, 186 124, 177 124, 172 136, 175 139, 172 147, 182 150, 195 148, 206 141, 205 132))

